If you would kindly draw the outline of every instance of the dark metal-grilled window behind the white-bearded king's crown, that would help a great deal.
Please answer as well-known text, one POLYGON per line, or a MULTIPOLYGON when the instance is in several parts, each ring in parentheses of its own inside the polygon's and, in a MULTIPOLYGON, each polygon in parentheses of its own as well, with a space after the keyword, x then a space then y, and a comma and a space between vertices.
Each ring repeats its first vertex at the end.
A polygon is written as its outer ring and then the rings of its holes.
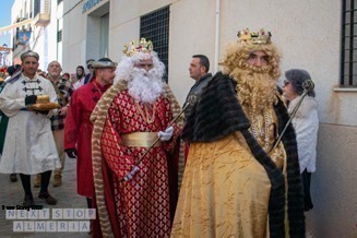
POLYGON ((152 40, 154 50, 166 67, 164 80, 168 80, 168 34, 169 34, 169 7, 156 10, 141 16, 140 38, 145 37, 152 40))

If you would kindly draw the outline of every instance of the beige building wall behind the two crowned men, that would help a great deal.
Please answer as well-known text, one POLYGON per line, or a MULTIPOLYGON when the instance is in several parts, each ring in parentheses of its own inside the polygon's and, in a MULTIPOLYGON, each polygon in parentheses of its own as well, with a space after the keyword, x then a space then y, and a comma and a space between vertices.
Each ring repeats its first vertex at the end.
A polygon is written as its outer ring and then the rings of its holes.
POLYGON ((95 21, 90 24, 95 17, 91 12, 109 2, 109 58, 119 61, 122 46, 139 38, 140 16, 169 5, 168 83, 181 104, 194 83, 188 72, 192 55, 206 55, 215 73, 215 59, 236 40, 238 29, 271 31, 283 56, 279 82, 286 70, 300 68, 316 83, 320 130, 311 189, 314 209, 307 213, 307 227, 314 237, 357 236, 357 88, 338 88, 341 1, 111 0, 86 13, 82 13, 85 1, 75 7, 76 2, 64 3, 64 12, 69 11, 63 16, 67 71, 88 56, 98 57, 96 44, 87 37, 88 27, 95 25, 95 21))

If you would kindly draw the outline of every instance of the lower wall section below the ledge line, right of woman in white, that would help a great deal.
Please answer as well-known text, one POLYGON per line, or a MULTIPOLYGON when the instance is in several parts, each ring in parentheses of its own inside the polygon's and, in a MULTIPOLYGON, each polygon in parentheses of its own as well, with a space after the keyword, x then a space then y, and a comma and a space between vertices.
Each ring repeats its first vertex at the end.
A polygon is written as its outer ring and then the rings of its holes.
POLYGON ((307 215, 313 237, 357 237, 356 141, 356 127, 320 123, 314 207, 307 215))

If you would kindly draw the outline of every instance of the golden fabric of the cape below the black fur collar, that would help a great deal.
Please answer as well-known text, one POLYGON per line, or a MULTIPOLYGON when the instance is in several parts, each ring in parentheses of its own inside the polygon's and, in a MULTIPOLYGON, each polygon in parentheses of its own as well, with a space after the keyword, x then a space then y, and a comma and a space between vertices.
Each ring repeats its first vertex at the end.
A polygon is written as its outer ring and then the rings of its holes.
POLYGON ((193 143, 171 237, 266 237, 270 190, 239 132, 193 143))

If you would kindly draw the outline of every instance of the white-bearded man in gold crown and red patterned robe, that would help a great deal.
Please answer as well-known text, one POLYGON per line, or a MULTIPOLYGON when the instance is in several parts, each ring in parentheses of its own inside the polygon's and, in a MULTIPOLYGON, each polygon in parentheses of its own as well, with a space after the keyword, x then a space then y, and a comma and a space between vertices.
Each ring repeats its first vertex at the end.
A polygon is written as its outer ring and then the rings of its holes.
POLYGON ((151 41, 131 43, 124 53, 117 82, 92 114, 100 229, 103 236, 168 237, 170 203, 176 205, 169 183, 177 180, 170 176, 169 154, 183 116, 170 123, 180 116, 180 106, 162 81, 165 67, 151 41))

